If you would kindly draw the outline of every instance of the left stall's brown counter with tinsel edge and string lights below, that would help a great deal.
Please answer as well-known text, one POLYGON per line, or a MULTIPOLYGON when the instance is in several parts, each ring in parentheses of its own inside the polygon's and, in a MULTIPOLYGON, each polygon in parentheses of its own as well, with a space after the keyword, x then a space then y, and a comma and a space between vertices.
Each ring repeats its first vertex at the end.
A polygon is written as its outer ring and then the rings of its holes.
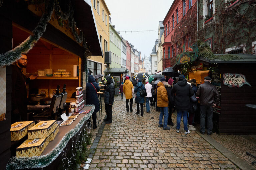
POLYGON ((90 110, 88 114, 81 113, 71 125, 60 126, 55 139, 50 141, 40 156, 12 157, 6 166, 7 170, 15 169, 67 169, 72 164, 72 157, 78 150, 82 150, 82 142, 88 140, 89 129, 87 120, 95 109, 94 105, 85 105, 83 110, 90 110), (68 155, 68 152, 72 153, 68 155))

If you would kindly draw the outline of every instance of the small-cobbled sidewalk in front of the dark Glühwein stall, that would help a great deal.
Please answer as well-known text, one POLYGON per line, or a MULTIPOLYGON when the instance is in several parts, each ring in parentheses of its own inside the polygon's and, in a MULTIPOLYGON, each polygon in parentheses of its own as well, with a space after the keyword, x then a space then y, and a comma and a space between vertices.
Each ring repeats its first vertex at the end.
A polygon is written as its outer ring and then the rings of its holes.
MULTIPOLYGON (((250 165, 252 161, 255 161, 255 158, 246 155, 246 152, 256 155, 255 143, 245 139, 240 135, 218 135, 216 133, 213 133, 211 137, 219 142, 226 149, 234 153, 237 157, 248 162, 250 165)), ((256 169, 256 164, 254 164, 253 167, 256 169)))

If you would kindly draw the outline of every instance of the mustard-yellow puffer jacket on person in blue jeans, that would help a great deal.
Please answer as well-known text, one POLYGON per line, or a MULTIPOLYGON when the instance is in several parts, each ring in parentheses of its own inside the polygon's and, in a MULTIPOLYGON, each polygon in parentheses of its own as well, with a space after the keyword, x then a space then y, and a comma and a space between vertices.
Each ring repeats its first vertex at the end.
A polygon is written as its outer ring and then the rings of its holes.
POLYGON ((168 107, 168 96, 164 84, 161 81, 159 81, 157 86, 157 106, 168 107))

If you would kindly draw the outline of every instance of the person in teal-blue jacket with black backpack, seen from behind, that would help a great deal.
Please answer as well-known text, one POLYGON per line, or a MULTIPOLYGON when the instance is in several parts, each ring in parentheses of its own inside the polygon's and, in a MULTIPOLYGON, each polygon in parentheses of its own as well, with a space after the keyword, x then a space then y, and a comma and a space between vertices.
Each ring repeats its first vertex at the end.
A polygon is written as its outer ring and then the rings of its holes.
POLYGON ((137 103, 137 115, 140 114, 141 111, 141 116, 143 117, 144 111, 143 111, 143 103, 144 103, 144 96, 140 95, 140 89, 146 90, 144 85, 141 82, 141 79, 138 80, 138 83, 136 84, 136 87, 134 87, 134 92, 137 92, 137 97, 136 97, 136 103, 137 103))

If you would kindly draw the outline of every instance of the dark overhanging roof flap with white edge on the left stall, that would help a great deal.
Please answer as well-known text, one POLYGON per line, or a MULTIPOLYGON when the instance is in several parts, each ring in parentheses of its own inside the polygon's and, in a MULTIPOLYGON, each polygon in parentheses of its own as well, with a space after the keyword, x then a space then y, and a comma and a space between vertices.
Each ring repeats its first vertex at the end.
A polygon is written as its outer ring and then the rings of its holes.
POLYGON ((103 56, 98 29, 93 13, 93 7, 89 0, 73 0, 74 18, 87 40, 88 48, 92 55, 103 56))

